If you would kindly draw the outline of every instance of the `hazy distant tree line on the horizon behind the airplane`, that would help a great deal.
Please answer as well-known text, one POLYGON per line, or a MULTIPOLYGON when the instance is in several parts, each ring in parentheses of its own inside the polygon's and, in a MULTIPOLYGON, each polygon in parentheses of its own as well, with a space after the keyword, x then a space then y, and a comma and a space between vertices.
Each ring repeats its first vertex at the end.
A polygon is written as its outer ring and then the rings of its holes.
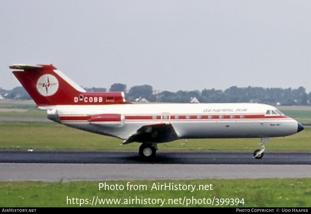
MULTIPOLYGON (((105 92, 106 88, 85 88, 86 91, 105 92)), ((172 102, 188 103, 196 97, 201 103, 223 103, 223 102, 255 102, 269 105, 311 105, 311 92, 306 93, 304 87, 298 89, 262 88, 251 87, 238 88, 232 86, 225 91, 216 89, 204 89, 202 91, 162 91, 154 93, 152 86, 133 86, 127 91, 125 84, 114 83, 109 91, 124 91, 128 101, 135 101, 137 98, 145 98, 150 102, 172 102)), ((0 95, 6 99, 30 100, 23 87, 16 87, 13 90, 0 89, 0 95)))

